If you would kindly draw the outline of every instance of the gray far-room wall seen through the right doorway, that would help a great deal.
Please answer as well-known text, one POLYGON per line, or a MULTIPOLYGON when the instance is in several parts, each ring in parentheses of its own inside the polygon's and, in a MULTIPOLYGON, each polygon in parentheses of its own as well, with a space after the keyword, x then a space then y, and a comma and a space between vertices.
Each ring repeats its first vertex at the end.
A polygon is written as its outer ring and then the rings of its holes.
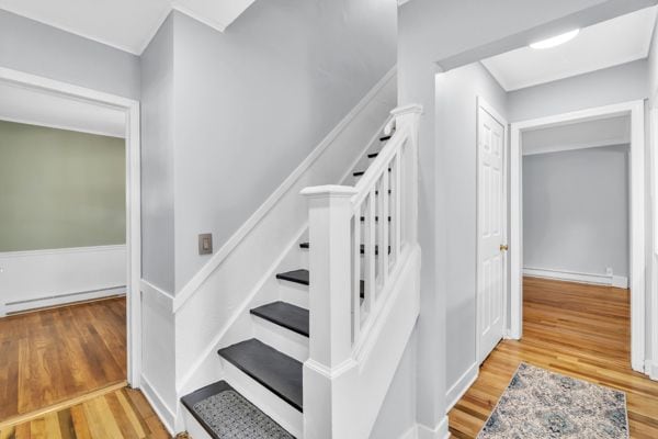
POLYGON ((628 145, 523 157, 523 266, 628 275, 628 145))

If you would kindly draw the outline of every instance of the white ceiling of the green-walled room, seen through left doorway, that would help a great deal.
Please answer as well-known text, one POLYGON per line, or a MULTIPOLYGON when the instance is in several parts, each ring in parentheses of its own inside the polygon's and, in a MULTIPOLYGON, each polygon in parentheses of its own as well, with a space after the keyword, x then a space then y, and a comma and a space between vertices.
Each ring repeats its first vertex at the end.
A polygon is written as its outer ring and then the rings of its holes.
POLYGON ((0 82, 0 120, 125 137, 125 113, 0 82))

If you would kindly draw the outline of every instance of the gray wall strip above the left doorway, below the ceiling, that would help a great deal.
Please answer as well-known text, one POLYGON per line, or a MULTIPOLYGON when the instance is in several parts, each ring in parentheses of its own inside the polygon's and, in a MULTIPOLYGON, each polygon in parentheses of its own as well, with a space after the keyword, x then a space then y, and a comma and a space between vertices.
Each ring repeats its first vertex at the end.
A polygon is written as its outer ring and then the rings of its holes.
POLYGON ((0 67, 139 99, 139 57, 3 10, 0 67))

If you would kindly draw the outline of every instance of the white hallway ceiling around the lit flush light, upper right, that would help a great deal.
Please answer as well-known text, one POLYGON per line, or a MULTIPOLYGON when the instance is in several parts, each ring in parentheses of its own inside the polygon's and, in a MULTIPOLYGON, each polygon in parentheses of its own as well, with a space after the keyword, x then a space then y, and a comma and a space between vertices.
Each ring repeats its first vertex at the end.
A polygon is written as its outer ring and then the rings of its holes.
POLYGON ((483 60, 507 91, 646 58, 656 7, 585 27, 570 42, 547 49, 522 47, 483 60))

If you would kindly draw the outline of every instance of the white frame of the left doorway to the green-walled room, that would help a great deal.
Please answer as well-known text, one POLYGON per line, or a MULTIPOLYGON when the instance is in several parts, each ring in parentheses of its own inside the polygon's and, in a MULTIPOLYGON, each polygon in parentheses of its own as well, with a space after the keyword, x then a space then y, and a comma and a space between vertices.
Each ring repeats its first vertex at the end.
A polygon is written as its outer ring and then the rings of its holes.
POLYGON ((126 114, 126 296, 127 380, 139 387, 141 376, 141 187, 139 101, 0 67, 0 81, 44 93, 81 100, 126 114))

